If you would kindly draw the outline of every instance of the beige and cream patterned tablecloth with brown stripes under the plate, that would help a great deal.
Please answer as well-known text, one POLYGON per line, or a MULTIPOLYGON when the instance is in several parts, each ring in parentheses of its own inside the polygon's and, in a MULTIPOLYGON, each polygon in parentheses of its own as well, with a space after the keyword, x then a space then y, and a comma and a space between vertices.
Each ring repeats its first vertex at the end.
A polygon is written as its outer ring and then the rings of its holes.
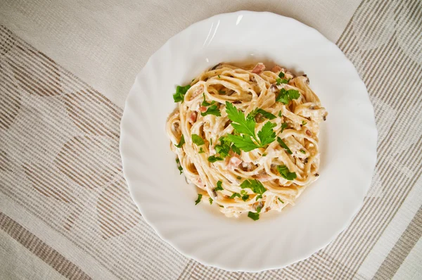
POLYGON ((0 1, 0 279, 422 279, 421 68, 418 0, 0 1), (335 42, 378 127, 373 182, 350 226, 309 259, 260 273, 207 267, 160 240, 129 197, 118 149, 148 57, 238 10, 286 15, 335 42))

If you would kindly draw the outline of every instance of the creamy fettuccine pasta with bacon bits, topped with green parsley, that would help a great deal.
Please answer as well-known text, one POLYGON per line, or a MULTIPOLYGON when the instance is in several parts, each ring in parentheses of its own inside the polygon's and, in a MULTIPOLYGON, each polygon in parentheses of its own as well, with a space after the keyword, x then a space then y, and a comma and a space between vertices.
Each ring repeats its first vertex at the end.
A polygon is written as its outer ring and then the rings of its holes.
POLYGON ((281 211, 318 177, 319 123, 327 111, 295 76, 263 63, 220 63, 173 95, 167 120, 177 166, 200 201, 227 217, 281 211))

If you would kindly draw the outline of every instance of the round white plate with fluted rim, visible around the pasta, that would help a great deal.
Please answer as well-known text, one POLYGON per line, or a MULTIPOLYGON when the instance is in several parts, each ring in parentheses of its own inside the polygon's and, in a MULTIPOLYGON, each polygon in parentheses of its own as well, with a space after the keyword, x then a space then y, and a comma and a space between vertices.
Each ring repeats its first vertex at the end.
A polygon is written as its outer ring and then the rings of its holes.
POLYGON ((191 25, 151 56, 126 101, 120 152, 132 198, 162 239, 205 265, 257 272, 303 260, 347 227, 371 183, 376 136, 365 85, 335 44, 292 18, 239 11, 191 25), (222 61, 305 72, 328 110, 319 180, 294 207, 256 222, 195 205, 195 188, 179 175, 165 134, 176 85, 222 61))

